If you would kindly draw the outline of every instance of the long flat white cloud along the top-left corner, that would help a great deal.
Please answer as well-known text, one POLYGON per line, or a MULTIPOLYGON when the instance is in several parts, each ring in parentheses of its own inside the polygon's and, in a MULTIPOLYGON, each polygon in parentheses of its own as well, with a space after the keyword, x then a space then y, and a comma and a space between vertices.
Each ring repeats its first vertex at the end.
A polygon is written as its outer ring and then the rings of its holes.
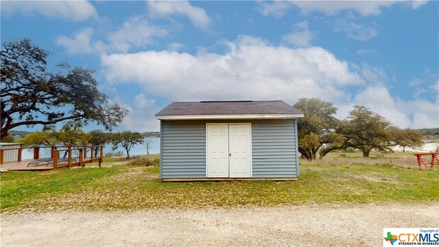
POLYGON ((88 1, 1 1, 1 14, 12 15, 21 12, 25 15, 35 13, 49 18, 62 18, 69 21, 84 21, 97 18, 97 12, 88 1))

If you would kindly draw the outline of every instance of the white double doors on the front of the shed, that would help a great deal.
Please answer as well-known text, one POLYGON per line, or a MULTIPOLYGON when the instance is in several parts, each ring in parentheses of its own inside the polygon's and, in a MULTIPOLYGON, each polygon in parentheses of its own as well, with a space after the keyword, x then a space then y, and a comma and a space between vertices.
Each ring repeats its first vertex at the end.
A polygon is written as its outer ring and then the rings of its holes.
POLYGON ((207 177, 252 176, 250 124, 207 124, 207 177))

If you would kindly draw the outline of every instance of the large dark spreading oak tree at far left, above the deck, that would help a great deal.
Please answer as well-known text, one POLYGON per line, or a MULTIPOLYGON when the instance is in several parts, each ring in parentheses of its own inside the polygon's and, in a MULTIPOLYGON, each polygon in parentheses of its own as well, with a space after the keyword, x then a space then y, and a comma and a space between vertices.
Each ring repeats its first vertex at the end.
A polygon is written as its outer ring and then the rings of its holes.
POLYGON ((18 126, 58 122, 82 126, 95 121, 111 130, 128 114, 119 104, 108 104, 91 70, 64 62, 58 65, 59 71, 49 71, 49 51, 29 39, 2 45, 0 138, 18 126))

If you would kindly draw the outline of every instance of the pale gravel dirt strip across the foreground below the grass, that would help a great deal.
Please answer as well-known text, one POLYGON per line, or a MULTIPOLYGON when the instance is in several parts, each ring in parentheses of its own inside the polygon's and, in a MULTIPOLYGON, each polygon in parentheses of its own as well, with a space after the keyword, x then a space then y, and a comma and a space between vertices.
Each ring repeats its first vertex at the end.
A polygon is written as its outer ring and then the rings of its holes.
POLYGON ((1 215, 1 246, 382 246, 383 227, 438 227, 439 204, 1 215))

